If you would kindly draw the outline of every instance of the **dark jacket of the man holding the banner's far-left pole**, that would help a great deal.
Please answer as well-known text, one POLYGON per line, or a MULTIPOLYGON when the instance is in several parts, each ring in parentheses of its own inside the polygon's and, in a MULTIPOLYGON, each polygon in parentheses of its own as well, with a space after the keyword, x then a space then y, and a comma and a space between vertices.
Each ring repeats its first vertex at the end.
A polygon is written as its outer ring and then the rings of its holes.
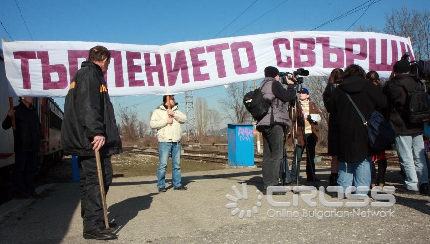
MULTIPOLYGON (((29 152, 40 151, 42 133, 36 108, 30 105, 28 108, 22 102, 14 107, 15 127, 14 151, 29 152)), ((2 124, 3 129, 12 127, 12 119, 6 116, 2 124)))

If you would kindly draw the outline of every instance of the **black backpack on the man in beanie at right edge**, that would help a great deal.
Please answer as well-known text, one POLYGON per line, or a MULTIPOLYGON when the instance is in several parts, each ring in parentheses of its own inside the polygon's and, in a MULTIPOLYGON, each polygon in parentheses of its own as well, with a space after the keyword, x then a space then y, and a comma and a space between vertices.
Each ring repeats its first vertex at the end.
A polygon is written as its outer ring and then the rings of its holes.
MULTIPOLYGON (((421 81, 417 81, 420 82, 421 81)), ((406 101, 402 114, 409 123, 423 123, 430 119, 430 101, 424 89, 409 89, 398 82, 406 90, 406 101)))

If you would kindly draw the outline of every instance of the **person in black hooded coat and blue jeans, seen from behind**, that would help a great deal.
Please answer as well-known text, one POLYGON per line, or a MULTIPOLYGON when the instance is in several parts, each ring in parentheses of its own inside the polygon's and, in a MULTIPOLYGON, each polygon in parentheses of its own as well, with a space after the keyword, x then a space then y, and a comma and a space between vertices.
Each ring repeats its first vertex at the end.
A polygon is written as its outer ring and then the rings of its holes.
MULTIPOLYGON (((344 81, 334 89, 327 106, 327 111, 337 122, 337 183, 344 191, 349 186, 370 187, 372 160, 366 126, 346 94, 351 96, 367 121, 373 111, 384 112, 387 105, 386 96, 377 86, 366 80, 362 67, 352 64, 345 69, 344 81)), ((367 191, 357 193, 367 194, 367 191)))

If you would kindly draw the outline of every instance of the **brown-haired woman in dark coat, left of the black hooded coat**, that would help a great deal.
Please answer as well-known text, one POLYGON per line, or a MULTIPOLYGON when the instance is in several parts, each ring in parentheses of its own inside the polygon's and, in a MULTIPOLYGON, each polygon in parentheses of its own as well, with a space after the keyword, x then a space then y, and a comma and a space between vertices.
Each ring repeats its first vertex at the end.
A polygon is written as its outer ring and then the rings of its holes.
MULTIPOLYGON (((327 85, 325 86, 325 90, 323 93, 323 102, 324 106, 327 109, 327 104, 331 99, 331 94, 333 90, 344 81, 344 71, 342 69, 333 69, 330 73, 330 76, 327 80, 327 85)), ((336 186, 336 181, 338 180, 338 156, 336 152, 337 141, 336 141, 336 131, 337 123, 331 114, 328 116, 328 136, 327 136, 327 154, 331 156, 330 163, 330 176, 329 176, 329 184, 330 186, 336 186)))

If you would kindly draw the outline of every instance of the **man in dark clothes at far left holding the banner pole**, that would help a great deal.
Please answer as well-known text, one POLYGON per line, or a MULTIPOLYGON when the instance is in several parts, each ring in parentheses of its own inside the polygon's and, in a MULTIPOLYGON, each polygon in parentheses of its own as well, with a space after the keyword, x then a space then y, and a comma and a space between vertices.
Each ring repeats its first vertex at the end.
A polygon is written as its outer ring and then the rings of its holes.
POLYGON ((34 98, 21 97, 20 104, 8 111, 2 123, 3 129, 9 129, 12 127, 11 116, 15 115, 13 181, 18 199, 40 197, 34 189, 34 173, 37 168, 42 133, 33 101, 34 98))

